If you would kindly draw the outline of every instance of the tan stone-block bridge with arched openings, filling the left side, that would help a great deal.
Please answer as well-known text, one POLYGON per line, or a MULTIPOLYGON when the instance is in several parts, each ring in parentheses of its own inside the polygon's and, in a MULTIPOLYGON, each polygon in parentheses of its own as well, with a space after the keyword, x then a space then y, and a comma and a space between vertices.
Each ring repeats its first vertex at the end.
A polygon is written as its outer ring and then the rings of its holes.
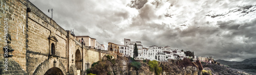
POLYGON ((82 45, 28 0, 0 5, 0 74, 84 74, 108 53, 82 45))

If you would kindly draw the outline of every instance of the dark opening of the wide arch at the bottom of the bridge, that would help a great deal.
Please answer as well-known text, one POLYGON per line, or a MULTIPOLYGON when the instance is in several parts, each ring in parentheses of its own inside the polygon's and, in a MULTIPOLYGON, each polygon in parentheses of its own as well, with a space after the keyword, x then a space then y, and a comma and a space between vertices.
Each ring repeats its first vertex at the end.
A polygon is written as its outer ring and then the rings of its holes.
POLYGON ((52 67, 44 75, 63 75, 63 72, 57 67, 52 67))

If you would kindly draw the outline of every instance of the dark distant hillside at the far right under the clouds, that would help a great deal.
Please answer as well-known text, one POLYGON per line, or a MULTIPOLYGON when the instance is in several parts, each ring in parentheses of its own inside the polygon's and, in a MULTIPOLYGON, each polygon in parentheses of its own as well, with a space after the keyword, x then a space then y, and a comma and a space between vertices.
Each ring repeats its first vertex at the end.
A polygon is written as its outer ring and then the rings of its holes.
POLYGON ((231 68, 241 69, 251 74, 256 74, 256 58, 245 59, 241 62, 237 61, 226 61, 226 60, 216 60, 221 64, 228 65, 231 68))

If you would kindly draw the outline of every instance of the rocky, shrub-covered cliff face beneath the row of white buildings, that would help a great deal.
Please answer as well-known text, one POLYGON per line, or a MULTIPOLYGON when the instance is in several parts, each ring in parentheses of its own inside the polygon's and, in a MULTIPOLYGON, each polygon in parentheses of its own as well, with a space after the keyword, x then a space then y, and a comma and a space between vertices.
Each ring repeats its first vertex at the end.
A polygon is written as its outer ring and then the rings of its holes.
MULTIPOLYGON (((87 70, 87 73, 93 74, 187 74, 197 75, 199 69, 196 65, 193 65, 189 60, 170 60, 169 62, 157 62, 157 65, 149 64, 150 60, 136 61, 140 63, 140 67, 137 68, 129 57, 118 57, 117 59, 103 58, 102 61, 97 62, 92 68, 87 70), (152 68, 153 67, 153 68, 152 68), (157 67, 157 68, 156 68, 157 67)), ((139 65, 138 65, 139 66, 139 65)))

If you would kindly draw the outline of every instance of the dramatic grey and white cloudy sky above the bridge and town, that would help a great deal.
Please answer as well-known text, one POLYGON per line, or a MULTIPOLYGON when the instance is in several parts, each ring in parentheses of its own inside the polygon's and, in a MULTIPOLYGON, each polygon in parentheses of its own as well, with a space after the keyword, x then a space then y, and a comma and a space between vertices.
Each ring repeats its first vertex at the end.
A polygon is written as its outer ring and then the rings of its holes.
POLYGON ((30 0, 66 30, 107 47, 123 39, 170 46, 197 56, 242 61, 256 57, 256 1, 30 0))

